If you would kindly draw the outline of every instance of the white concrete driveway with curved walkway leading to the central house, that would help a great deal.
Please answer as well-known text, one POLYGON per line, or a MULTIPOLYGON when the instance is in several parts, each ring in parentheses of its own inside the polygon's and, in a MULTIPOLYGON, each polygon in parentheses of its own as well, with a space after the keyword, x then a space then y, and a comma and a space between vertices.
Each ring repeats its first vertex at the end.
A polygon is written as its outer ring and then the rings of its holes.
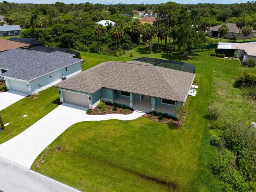
POLYGON ((82 121, 133 120, 145 114, 87 115, 88 108, 64 103, 16 137, 0 145, 0 156, 30 168, 36 157, 71 125, 82 121))

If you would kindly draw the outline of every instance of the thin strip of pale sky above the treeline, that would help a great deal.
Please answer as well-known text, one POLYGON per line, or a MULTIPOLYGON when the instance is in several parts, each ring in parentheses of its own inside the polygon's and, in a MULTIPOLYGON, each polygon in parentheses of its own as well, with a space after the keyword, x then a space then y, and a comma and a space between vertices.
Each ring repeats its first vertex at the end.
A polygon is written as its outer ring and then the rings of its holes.
MULTIPOLYGON (((215 3, 215 4, 234 4, 246 3, 248 0, 6 0, 7 2, 14 3, 38 3, 38 4, 54 4, 55 2, 64 2, 65 4, 79 4, 90 2, 92 4, 160 4, 168 1, 173 1, 179 4, 198 4, 198 3, 215 3)), ((251 2, 252 0, 250 0, 251 2)), ((0 0, 3 2, 3 0, 0 0)))

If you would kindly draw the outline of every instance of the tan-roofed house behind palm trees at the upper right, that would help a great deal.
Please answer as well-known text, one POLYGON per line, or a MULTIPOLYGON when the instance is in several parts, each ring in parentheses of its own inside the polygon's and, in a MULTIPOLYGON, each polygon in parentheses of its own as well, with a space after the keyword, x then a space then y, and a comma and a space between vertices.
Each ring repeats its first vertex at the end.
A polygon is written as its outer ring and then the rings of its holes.
MULTIPOLYGON (((228 36, 228 38, 232 39, 232 38, 236 38, 238 39, 238 34, 239 34, 239 29, 237 28, 235 23, 227 23, 226 24, 229 28, 229 32, 228 34, 226 34, 226 36, 228 36)), ((217 25, 214 27, 210 27, 210 29, 207 30, 207 34, 209 37, 213 37, 213 38, 220 38, 220 33, 218 32, 219 28, 222 25, 217 25)), ((255 30, 252 30, 251 34, 249 36, 246 37, 246 39, 251 39, 254 38, 254 34, 255 34, 255 30)), ((242 30, 240 31, 240 39, 244 39, 244 35, 242 33, 242 30)))

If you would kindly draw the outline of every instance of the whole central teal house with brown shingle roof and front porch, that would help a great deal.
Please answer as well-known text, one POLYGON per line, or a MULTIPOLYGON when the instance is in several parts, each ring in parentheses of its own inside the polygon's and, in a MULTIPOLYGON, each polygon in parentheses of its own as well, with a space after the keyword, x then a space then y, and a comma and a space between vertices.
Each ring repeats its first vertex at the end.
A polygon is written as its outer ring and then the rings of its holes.
POLYGON ((183 105, 195 74, 154 66, 140 61, 110 61, 98 64, 64 80, 60 101, 94 109, 102 100, 130 108, 176 116, 175 106, 183 105))

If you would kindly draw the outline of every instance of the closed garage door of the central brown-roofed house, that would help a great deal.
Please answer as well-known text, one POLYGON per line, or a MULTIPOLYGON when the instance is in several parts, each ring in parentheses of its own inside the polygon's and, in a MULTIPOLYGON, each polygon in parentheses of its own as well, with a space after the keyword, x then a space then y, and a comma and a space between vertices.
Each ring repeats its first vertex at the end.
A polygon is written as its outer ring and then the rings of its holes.
POLYGON ((63 102, 89 107, 87 95, 62 91, 63 102))

